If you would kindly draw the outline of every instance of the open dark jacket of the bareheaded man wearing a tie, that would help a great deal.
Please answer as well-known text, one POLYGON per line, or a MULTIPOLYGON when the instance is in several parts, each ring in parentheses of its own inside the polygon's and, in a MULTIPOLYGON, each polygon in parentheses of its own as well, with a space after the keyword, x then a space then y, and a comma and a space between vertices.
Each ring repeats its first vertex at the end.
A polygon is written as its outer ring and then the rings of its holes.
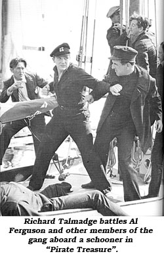
MULTIPOLYGON (((45 85, 47 85, 47 81, 45 81, 43 78, 39 77, 37 74, 25 74, 26 77, 26 88, 28 92, 28 98, 30 100, 35 100, 36 98, 39 98, 39 91, 37 87, 43 88, 45 85)), ((4 81, 4 87, 3 91, 1 92, 0 96, 0 102, 4 103, 9 100, 10 96, 7 96, 7 89, 13 85, 14 83, 14 77, 10 77, 7 81, 4 81)), ((11 95, 12 102, 18 102, 18 90, 14 90, 11 95)))

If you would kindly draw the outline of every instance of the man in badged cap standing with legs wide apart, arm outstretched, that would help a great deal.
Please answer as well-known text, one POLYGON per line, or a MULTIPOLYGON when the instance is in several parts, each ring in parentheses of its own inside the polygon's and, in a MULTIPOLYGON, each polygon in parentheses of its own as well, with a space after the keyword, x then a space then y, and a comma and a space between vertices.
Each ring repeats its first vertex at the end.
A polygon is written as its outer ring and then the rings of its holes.
POLYGON ((106 179, 105 173, 102 170, 96 173, 89 167, 89 154, 93 142, 89 110, 85 104, 85 87, 92 89, 93 95, 94 93, 104 95, 109 92, 110 84, 98 81, 82 68, 73 65, 70 62, 68 43, 58 45, 50 56, 56 64, 51 91, 56 93, 58 107, 52 111, 53 117, 47 124, 45 135, 41 140, 30 180, 30 188, 32 190, 41 188, 54 152, 70 135, 81 152, 85 169, 96 189, 109 192, 110 182, 106 179))

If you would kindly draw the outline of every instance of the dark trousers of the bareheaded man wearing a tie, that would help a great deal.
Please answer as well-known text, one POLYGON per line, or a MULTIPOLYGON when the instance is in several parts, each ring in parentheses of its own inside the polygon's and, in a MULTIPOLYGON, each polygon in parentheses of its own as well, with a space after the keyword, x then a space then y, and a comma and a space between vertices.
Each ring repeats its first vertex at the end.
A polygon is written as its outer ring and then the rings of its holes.
MULTIPOLYGON (((41 140, 42 135, 45 131, 45 116, 43 114, 40 114, 31 119, 31 121, 28 121, 27 118, 25 120, 26 121, 24 121, 24 119, 20 119, 12 121, 11 123, 5 123, 5 125, 3 125, 2 133, 0 135, 0 164, 2 164, 2 159, 5 154, 5 151, 7 150, 10 144, 10 139, 12 138, 12 136, 16 135, 18 131, 26 127, 27 123, 28 125, 30 125, 31 131, 33 131, 37 138, 41 140)), ((33 134, 32 136, 36 153, 37 148, 39 147, 39 140, 33 134)))

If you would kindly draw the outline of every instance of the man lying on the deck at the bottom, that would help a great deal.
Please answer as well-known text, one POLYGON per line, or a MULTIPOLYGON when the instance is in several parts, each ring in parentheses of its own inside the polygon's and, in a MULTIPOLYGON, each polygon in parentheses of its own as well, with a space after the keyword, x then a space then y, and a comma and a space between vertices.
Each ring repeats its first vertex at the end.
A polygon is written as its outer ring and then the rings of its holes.
POLYGON ((69 183, 62 182, 49 185, 37 193, 16 182, 1 182, 1 215, 39 216, 45 211, 77 208, 96 209, 104 216, 127 215, 117 203, 111 202, 98 190, 68 195, 66 192, 69 192, 70 188, 69 183))

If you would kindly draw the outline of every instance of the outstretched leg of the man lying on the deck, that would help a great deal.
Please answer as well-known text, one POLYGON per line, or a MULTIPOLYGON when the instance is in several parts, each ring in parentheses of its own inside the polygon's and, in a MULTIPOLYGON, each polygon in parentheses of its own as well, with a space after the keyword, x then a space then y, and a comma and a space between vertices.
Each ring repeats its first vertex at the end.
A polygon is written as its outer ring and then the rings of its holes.
POLYGON ((126 216, 127 213, 117 203, 111 202, 102 192, 94 190, 82 194, 70 194, 60 198, 51 198, 54 211, 64 209, 96 209, 104 216, 126 216))

